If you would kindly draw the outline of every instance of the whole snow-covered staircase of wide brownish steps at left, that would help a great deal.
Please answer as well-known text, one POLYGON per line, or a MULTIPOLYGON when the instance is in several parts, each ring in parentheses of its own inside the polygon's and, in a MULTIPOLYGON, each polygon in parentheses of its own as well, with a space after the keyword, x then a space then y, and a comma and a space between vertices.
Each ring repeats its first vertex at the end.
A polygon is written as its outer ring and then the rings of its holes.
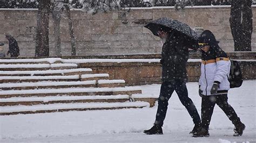
POLYGON ((58 59, 0 59, 0 115, 152 107, 156 98, 58 59))

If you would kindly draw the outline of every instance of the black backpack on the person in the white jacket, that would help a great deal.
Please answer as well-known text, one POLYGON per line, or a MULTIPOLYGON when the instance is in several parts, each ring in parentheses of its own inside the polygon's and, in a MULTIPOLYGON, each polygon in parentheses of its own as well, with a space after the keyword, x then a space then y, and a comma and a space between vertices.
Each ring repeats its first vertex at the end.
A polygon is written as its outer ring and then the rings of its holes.
POLYGON ((230 88, 240 87, 242 85, 242 72, 237 60, 230 60, 230 75, 228 81, 230 81, 230 88))

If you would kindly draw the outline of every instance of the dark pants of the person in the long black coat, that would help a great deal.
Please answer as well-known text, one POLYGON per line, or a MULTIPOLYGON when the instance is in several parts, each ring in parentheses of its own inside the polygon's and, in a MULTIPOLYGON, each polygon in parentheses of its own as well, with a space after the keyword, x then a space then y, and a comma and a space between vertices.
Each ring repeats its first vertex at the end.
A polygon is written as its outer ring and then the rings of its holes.
POLYGON ((170 82, 163 82, 161 84, 160 95, 158 98, 158 108, 155 125, 163 126, 164 119, 167 111, 168 101, 172 96, 172 93, 176 91, 179 100, 186 107, 188 113, 193 119, 194 124, 201 122, 200 116, 197 112, 196 106, 193 101, 188 97, 187 87, 185 81, 175 80, 170 82))

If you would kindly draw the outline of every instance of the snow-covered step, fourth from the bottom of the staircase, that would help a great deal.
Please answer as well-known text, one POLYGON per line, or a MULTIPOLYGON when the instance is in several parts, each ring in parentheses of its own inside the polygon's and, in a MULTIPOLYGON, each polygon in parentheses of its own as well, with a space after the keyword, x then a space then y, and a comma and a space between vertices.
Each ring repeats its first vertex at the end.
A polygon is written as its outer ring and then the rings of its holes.
POLYGON ((39 81, 30 83, 2 83, 2 90, 32 90, 42 88, 97 87, 96 80, 87 81, 39 81))

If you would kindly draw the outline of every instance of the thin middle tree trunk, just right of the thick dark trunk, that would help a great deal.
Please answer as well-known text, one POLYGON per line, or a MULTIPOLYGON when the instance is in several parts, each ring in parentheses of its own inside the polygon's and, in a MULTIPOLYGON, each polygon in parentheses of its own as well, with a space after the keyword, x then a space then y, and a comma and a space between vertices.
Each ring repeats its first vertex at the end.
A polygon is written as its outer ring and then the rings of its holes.
POLYGON ((52 11, 53 18, 53 35, 55 38, 55 53, 57 57, 62 57, 62 50, 60 48, 61 40, 60 40, 60 32, 59 32, 59 24, 61 13, 60 11, 52 11))

